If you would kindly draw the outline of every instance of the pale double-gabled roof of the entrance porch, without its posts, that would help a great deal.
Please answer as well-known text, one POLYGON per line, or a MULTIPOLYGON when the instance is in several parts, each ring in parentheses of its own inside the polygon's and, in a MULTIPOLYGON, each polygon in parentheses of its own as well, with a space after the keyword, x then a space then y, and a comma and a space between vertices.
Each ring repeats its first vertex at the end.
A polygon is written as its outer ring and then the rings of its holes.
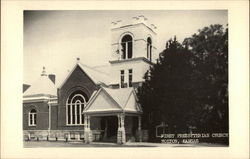
POLYGON ((111 89, 101 87, 91 96, 83 110, 83 114, 93 115, 114 113, 142 113, 133 88, 111 89))

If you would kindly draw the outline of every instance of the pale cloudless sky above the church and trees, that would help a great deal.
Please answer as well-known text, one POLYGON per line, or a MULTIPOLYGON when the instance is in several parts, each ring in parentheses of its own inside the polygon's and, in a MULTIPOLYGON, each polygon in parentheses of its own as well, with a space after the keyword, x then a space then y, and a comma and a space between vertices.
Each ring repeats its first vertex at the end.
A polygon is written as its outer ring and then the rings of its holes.
POLYGON ((111 22, 139 15, 157 26, 158 53, 174 36, 182 42, 205 26, 228 24, 226 10, 24 11, 23 82, 35 82, 44 66, 59 86, 78 57, 89 66, 108 65, 111 22))

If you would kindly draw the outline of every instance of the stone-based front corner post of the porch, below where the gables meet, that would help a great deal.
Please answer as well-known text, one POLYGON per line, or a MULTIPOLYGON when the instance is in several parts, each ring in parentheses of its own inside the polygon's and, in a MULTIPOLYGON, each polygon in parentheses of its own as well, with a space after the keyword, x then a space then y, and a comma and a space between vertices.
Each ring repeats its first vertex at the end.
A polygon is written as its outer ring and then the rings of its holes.
POLYGON ((117 143, 124 144, 126 143, 126 133, 124 127, 124 114, 118 114, 118 131, 117 131, 117 143))

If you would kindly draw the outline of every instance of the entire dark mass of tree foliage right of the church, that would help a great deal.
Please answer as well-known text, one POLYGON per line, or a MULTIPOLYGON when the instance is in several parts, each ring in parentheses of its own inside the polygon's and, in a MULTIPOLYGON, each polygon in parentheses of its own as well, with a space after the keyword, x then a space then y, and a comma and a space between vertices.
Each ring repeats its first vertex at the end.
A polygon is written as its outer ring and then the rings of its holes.
POLYGON ((228 132, 228 29, 211 25, 180 44, 169 40, 138 89, 144 128, 228 132))

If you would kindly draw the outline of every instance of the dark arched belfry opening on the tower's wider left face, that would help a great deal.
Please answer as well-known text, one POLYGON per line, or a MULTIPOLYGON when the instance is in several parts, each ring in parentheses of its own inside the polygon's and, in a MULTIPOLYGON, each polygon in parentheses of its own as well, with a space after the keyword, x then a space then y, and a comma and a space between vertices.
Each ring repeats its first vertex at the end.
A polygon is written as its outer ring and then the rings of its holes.
POLYGON ((133 38, 131 35, 123 36, 121 40, 122 59, 129 59, 133 56, 133 38))

